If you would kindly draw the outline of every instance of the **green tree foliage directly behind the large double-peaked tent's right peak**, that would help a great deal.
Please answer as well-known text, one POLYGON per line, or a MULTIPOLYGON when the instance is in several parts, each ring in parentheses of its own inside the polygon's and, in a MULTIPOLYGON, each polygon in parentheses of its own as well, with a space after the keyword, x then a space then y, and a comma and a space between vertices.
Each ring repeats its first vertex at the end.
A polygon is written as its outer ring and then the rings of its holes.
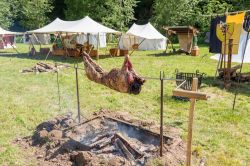
POLYGON ((90 16, 98 22, 124 30, 134 20, 136 0, 65 0, 68 20, 90 16))

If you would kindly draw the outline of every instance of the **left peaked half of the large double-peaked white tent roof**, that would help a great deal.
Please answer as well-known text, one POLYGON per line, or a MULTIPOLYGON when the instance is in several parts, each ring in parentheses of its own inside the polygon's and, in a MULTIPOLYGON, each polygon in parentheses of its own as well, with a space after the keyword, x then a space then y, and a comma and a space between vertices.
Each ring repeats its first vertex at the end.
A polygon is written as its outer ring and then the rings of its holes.
POLYGON ((54 21, 49 23, 48 25, 45 25, 44 27, 40 29, 36 29, 33 31, 28 31, 28 33, 55 33, 55 32, 64 32, 65 29, 75 25, 80 20, 76 21, 64 21, 60 18, 56 18, 54 21))

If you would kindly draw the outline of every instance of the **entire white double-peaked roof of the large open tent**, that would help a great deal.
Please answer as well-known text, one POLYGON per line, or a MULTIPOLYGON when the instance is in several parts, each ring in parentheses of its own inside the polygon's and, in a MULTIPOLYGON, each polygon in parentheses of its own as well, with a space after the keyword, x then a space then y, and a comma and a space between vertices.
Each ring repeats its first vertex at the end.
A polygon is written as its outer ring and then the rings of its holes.
POLYGON ((86 16, 81 20, 64 21, 56 18, 50 24, 28 33, 55 33, 55 32, 73 32, 73 33, 118 33, 111 28, 97 23, 90 17, 86 16))

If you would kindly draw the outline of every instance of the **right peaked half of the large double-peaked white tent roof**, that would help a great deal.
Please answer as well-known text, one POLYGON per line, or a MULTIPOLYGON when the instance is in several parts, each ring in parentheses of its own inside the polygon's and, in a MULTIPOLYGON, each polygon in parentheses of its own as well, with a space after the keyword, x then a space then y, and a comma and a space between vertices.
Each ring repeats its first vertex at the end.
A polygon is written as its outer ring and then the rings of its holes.
POLYGON ((94 20, 89 16, 84 17, 77 22, 74 26, 65 30, 65 32, 79 32, 79 33, 119 33, 114 29, 108 28, 94 20))

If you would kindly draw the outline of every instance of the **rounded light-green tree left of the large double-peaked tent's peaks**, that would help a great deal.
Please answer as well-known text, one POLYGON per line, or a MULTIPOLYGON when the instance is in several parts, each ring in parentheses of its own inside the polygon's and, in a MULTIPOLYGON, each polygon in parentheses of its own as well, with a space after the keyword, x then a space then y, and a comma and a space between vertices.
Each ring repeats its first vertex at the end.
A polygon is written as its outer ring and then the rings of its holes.
POLYGON ((48 21, 48 14, 52 11, 51 0, 19 0, 20 23, 27 29, 44 26, 48 21))

